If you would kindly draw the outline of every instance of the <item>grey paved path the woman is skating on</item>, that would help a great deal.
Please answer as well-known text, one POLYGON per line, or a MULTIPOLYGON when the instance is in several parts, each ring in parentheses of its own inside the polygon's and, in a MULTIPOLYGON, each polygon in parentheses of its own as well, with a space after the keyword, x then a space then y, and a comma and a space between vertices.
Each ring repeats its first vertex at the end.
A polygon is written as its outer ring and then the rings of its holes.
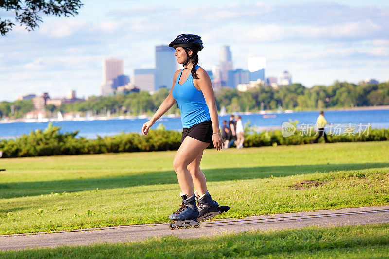
POLYGON ((223 219, 202 222, 199 228, 170 230, 168 224, 106 227, 93 230, 34 235, 0 236, 0 250, 26 247, 55 247, 57 245, 87 245, 99 242, 126 242, 153 236, 175 234, 180 238, 211 236, 224 232, 243 232, 253 229, 301 228, 307 225, 356 225, 389 223, 389 205, 380 207, 344 208, 271 216, 253 216, 244 219, 223 219))

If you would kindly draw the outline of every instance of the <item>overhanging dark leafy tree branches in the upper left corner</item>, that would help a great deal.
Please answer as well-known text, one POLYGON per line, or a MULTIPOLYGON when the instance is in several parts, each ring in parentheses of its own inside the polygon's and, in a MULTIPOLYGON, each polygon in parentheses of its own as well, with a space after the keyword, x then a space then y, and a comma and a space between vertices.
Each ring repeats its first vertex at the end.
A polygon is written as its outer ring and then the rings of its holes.
MULTIPOLYGON (((33 31, 42 22, 41 14, 54 16, 75 16, 83 4, 80 0, 0 0, 0 10, 5 9, 15 16, 15 21, 25 26, 27 31, 33 31)), ((5 36, 12 30, 15 23, 10 19, 1 19, 0 32, 5 36)))

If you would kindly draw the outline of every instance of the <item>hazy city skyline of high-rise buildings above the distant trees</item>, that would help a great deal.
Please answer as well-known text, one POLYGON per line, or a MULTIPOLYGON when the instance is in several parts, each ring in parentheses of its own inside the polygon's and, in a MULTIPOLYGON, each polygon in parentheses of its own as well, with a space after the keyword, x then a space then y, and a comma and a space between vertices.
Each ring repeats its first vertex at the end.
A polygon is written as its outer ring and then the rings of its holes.
MULTIPOLYGON (((111 96, 116 90, 136 87, 140 91, 147 91, 151 94, 160 88, 172 87, 171 75, 178 69, 182 69, 174 55, 175 51, 168 45, 155 46, 155 68, 134 69, 133 78, 123 74, 124 60, 120 58, 109 58, 103 60, 103 82, 101 95, 111 96), (122 88, 118 88, 122 87, 122 88)), ((214 89, 221 87, 237 88, 239 84, 248 84, 249 81, 261 79, 265 82, 266 58, 257 57, 248 59, 248 67, 251 70, 234 69, 232 53, 229 46, 220 48, 219 64, 212 66, 212 71, 207 71, 214 89)), ((280 78, 281 80, 281 78, 280 78)), ((290 85, 291 81, 288 81, 290 85)))

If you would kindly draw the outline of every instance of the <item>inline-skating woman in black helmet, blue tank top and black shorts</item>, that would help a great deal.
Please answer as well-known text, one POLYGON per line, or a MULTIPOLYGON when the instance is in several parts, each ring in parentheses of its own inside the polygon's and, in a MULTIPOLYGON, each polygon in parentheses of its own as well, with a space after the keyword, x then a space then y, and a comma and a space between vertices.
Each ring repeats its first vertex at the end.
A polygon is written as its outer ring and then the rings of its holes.
MULTIPOLYGON (((223 139, 210 77, 197 65, 197 53, 203 49, 201 37, 181 34, 169 46, 176 50, 177 62, 184 69, 175 72, 169 95, 151 120, 143 124, 142 133, 147 135, 149 128, 177 101, 183 132, 181 146, 173 159, 173 168, 181 189, 182 205, 169 218, 175 221, 191 220, 187 221, 192 222, 189 225, 199 226, 197 218, 216 211, 218 207, 207 190, 206 178, 200 170, 201 158, 211 142, 216 150, 220 150, 223 139), (194 186, 196 193, 193 192, 194 186)), ((171 225, 172 229, 174 227, 171 225)))

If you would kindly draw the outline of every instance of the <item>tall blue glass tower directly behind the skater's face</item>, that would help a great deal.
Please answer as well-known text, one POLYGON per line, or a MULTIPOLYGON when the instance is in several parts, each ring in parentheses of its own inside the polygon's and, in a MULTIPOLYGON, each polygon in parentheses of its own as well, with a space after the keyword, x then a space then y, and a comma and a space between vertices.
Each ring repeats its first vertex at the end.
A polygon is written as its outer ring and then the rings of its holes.
POLYGON ((173 86, 173 75, 177 68, 177 59, 174 55, 175 50, 166 45, 155 47, 155 90, 173 86))

